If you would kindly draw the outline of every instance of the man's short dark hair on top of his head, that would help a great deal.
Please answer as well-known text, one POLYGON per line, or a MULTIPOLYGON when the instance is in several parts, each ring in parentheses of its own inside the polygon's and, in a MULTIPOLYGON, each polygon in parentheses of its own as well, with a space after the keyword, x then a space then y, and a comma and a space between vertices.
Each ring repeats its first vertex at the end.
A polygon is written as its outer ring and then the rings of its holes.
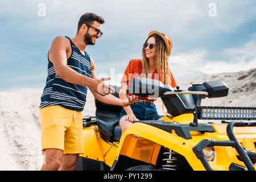
POLYGON ((78 23, 78 26, 77 26, 77 32, 79 32, 82 24, 89 24, 91 26, 94 21, 97 21, 101 24, 103 24, 105 22, 105 20, 101 16, 98 16, 95 13, 85 13, 85 14, 83 14, 79 19, 79 23, 78 23))

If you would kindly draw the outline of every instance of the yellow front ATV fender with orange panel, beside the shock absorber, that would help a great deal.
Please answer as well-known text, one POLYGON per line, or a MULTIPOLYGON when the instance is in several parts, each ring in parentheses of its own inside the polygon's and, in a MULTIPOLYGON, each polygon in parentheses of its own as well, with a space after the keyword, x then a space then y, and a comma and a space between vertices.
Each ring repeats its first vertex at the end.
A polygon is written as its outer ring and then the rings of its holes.
MULTIPOLYGON (((182 146, 184 142, 188 142, 188 140, 144 123, 133 123, 121 137, 115 160, 118 160, 119 155, 125 155, 129 158, 155 165, 161 146, 170 149, 179 146, 180 151, 176 152, 179 154, 181 152, 183 156, 188 156, 190 153, 189 158, 192 158, 193 161, 197 161, 198 159, 192 151, 193 144, 189 147, 191 151, 187 151, 187 147, 183 149, 180 148, 180 144, 182 146), (142 138, 144 141, 139 141, 139 138, 142 138), (140 143, 143 143, 143 145, 140 146, 140 143), (151 148, 149 146, 151 146, 151 148)), ((201 168, 204 169, 203 165, 201 165, 201 168)))

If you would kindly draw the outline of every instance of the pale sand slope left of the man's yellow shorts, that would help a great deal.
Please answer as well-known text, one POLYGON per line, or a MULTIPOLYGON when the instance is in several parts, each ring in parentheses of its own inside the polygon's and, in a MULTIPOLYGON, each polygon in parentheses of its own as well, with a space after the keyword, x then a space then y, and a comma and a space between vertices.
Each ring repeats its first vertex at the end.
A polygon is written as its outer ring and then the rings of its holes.
POLYGON ((37 170, 40 152, 40 93, 0 93, 0 169, 37 170))

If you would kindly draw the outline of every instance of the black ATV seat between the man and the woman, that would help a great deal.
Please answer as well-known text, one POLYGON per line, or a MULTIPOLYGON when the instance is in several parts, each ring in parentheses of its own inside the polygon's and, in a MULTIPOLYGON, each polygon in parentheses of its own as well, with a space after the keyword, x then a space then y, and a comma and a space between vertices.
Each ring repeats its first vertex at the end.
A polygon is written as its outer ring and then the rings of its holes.
MULTIPOLYGON (((110 85, 112 86, 112 85, 110 85)), ((119 98, 119 86, 112 86, 115 89, 113 96, 119 98)), ((118 125, 119 113, 122 111, 122 106, 105 104, 104 102, 95 100, 96 119, 98 130, 103 139, 108 142, 119 142, 122 130, 118 125)))

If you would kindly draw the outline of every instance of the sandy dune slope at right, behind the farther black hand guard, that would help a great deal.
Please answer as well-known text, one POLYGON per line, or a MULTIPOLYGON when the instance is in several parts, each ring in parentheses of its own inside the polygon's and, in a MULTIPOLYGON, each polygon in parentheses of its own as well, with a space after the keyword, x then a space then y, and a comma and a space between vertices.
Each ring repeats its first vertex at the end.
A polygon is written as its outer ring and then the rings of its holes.
POLYGON ((205 81, 223 80, 229 87, 229 94, 222 98, 205 98, 202 105, 211 106, 256 106, 256 68, 236 73, 219 73, 178 80, 181 88, 205 81))

